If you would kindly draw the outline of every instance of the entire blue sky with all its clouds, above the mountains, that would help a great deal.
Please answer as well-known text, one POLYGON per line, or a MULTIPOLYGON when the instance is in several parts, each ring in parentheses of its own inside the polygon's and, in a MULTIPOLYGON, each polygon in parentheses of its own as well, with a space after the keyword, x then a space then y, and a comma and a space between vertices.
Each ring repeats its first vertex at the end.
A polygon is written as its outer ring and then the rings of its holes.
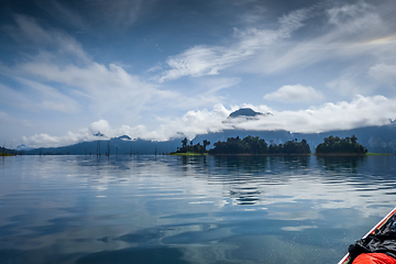
POLYGON ((2 0, 0 144, 396 119, 394 0, 2 0), (240 109, 256 120, 228 120, 240 109))

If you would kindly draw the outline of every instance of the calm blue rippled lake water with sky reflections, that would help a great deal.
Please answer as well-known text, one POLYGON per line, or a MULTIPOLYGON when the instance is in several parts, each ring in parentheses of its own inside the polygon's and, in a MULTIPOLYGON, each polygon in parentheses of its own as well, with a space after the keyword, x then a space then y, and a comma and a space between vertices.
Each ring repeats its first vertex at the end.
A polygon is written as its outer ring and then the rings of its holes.
POLYGON ((0 263, 337 263, 396 156, 0 158, 0 263))

